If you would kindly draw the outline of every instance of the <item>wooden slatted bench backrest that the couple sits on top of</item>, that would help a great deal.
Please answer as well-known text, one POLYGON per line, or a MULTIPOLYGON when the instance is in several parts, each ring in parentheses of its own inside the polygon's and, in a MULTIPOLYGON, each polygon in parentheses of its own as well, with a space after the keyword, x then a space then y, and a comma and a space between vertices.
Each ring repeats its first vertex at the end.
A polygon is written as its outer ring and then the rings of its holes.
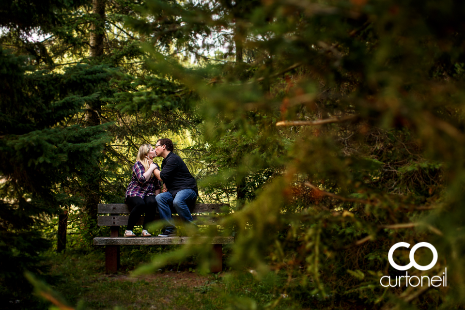
MULTIPOLYGON (((129 214, 131 211, 125 203, 100 203, 97 213, 109 214, 97 217, 98 226, 126 226, 129 217, 120 214, 129 214)), ((202 225, 217 225, 218 219, 212 215, 228 214, 230 210, 227 203, 197 203, 191 213, 194 220, 201 221, 202 225)), ((173 216, 174 220, 178 218, 178 216, 173 216)), ((155 220, 157 219, 160 217, 156 216, 155 220)), ((143 221, 144 217, 140 217, 136 225, 142 225, 143 221)))

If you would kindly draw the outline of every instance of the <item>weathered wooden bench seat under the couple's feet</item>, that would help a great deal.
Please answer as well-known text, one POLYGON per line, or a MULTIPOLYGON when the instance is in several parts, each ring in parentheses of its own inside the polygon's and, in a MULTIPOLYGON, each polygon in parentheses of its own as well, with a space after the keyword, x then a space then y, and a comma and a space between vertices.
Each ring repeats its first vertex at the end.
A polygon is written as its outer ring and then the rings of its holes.
POLYGON ((124 245, 178 245, 178 244, 232 244, 234 237, 95 237, 93 238, 94 246, 124 246, 124 245))

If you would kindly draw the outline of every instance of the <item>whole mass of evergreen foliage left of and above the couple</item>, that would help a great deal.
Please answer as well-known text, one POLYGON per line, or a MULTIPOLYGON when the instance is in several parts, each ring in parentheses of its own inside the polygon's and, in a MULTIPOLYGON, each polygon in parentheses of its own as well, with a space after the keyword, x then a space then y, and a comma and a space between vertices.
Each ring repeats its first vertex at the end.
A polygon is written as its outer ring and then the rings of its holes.
POLYGON ((24 270, 45 272, 40 253, 56 240, 58 213, 68 211, 78 234, 69 246, 89 248, 103 233, 96 203, 124 201, 139 145, 200 122, 189 91, 147 75, 142 39, 124 28, 126 16, 138 16, 135 3, 107 1, 97 28, 92 5, 1 4, 0 281, 8 298, 28 294, 24 270), (89 58, 91 34, 105 31, 105 55, 89 58))

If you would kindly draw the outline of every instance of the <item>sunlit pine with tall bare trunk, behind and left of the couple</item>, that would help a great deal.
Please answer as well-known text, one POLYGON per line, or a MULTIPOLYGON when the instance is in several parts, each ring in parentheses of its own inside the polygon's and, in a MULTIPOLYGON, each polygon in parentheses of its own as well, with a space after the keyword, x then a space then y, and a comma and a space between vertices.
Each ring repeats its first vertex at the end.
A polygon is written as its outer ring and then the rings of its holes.
MULTIPOLYGON (((135 3, 125 0, 70 3, 62 10, 51 9, 54 23, 35 25, 39 27, 34 29, 36 34, 45 37, 42 41, 31 42, 30 37, 24 38, 13 27, 2 41, 17 54, 33 52, 31 64, 37 68, 57 72, 65 68, 79 75, 85 67, 88 72, 95 72, 95 78, 100 78, 92 79, 94 84, 90 85, 81 84, 84 77, 76 77, 75 93, 82 96, 98 93, 98 96, 85 101, 83 113, 78 112, 69 123, 88 127, 111 123, 109 133, 113 140, 98 158, 99 166, 87 171, 89 174, 82 183, 69 183, 66 189, 72 195, 85 197, 85 202, 78 202, 78 214, 71 216, 81 217, 85 222, 90 233, 84 235, 90 243, 96 233, 96 205, 122 202, 139 145, 151 142, 161 132, 180 133, 194 128, 199 118, 190 107, 192 96, 188 90, 166 78, 152 76, 145 65, 140 41, 169 49, 171 39, 144 38, 128 29, 124 16, 140 16, 135 3)), ((162 25, 159 30, 168 27, 162 25)))

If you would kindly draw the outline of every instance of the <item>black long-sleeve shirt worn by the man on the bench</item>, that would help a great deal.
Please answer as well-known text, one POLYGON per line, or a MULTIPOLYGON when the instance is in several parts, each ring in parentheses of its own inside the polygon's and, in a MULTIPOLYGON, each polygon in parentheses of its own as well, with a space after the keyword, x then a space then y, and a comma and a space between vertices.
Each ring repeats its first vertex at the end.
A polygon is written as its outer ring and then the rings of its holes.
POLYGON ((178 155, 170 152, 161 163, 160 178, 166 184, 171 195, 183 189, 193 189, 199 195, 197 181, 187 169, 186 163, 178 155))

